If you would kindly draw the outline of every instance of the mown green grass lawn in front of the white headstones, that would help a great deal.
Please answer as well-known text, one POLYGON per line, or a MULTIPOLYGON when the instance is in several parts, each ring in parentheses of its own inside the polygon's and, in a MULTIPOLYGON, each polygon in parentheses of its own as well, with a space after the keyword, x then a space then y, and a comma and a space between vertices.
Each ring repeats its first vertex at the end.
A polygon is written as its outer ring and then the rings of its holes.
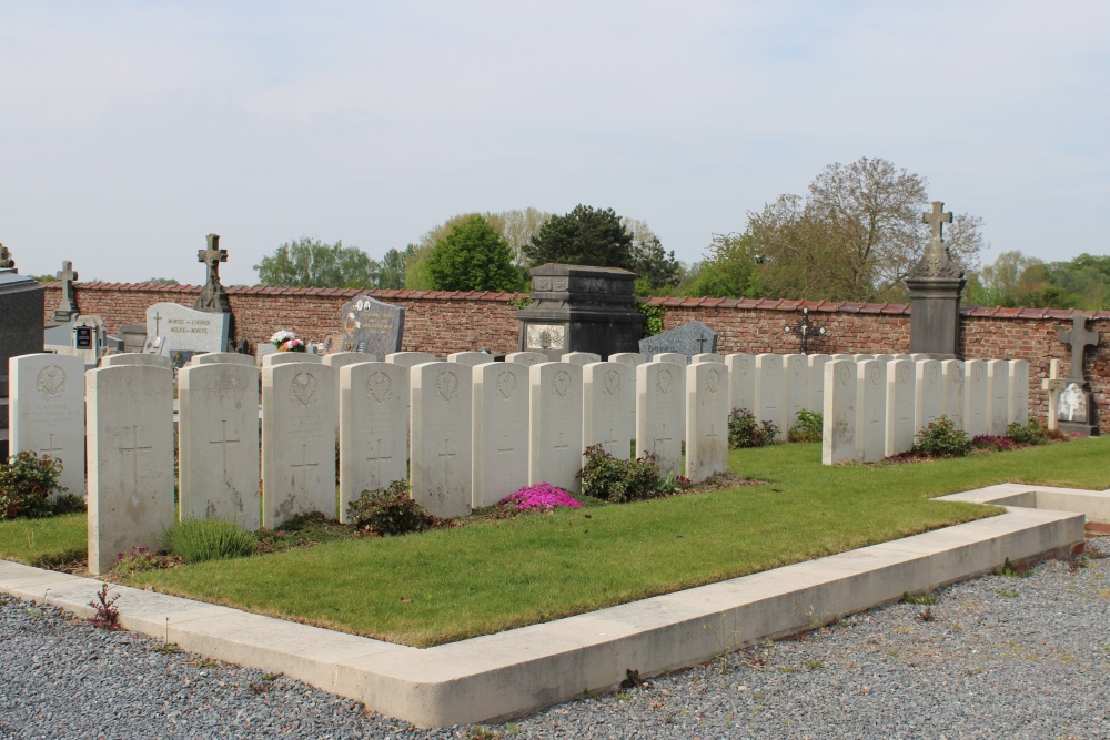
MULTIPOLYGON (((910 465, 820 465, 820 445, 735 450, 768 481, 639 504, 324 543, 140 574, 135 586, 393 642, 430 646, 589 611, 988 516, 929 501, 1006 480, 1102 490, 1110 440, 910 465)), ((0 556, 30 561, 28 523, 0 556), (23 548, 23 549, 21 549, 23 548)), ((83 547, 83 519, 32 523, 34 553, 83 547), (77 525, 80 526, 77 526, 77 525), (48 530, 54 530, 48 535, 48 530)))

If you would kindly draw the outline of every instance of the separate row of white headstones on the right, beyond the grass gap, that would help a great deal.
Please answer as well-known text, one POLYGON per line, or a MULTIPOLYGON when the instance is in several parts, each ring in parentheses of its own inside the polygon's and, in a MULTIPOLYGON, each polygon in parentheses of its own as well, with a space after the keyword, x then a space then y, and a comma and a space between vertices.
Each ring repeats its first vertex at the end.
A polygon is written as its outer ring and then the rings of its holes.
POLYGON ((825 365, 821 459, 872 463, 908 452, 940 416, 971 437, 1029 417, 1023 359, 838 359, 825 365))

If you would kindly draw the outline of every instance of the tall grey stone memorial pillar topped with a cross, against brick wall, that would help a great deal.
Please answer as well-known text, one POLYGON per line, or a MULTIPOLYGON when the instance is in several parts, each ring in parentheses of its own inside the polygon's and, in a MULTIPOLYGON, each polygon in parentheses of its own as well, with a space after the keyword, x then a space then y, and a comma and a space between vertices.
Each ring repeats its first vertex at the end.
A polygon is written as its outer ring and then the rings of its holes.
POLYGON ((963 267, 945 245, 944 227, 952 223, 951 211, 934 201, 932 211, 921 214, 932 226, 932 239, 925 253, 906 275, 909 287, 909 351, 928 353, 935 359, 959 354, 960 294, 967 278, 963 267), (938 357, 937 355, 942 355, 938 357))

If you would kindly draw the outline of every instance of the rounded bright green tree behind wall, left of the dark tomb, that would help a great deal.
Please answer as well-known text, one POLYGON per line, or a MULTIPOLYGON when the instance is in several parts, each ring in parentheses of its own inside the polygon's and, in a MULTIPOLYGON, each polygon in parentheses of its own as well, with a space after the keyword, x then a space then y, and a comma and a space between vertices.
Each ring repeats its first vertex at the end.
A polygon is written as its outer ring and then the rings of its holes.
POLYGON ((427 272, 438 291, 509 292, 521 286, 508 242, 477 214, 453 225, 436 242, 427 272))

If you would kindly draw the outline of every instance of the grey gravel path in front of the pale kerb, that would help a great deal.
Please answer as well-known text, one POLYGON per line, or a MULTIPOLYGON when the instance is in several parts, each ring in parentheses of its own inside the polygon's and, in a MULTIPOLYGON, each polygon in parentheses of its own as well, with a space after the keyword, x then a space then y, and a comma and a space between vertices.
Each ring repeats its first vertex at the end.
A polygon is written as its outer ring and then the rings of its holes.
POLYGON ((0 738, 1110 737, 1110 538, 513 723, 417 730, 0 597, 0 738), (928 609, 931 619, 924 619, 928 609))

